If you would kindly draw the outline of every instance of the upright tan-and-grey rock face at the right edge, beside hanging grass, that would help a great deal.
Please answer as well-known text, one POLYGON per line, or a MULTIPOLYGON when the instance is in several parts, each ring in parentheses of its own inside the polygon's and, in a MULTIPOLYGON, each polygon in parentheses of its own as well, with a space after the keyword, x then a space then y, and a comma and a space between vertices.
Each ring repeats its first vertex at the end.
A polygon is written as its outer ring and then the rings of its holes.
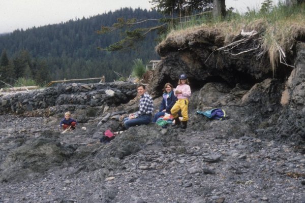
POLYGON ((275 127, 268 133, 299 141, 299 137, 305 140, 305 44, 298 43, 296 52, 295 69, 286 81, 282 94, 283 108, 277 114, 275 127))

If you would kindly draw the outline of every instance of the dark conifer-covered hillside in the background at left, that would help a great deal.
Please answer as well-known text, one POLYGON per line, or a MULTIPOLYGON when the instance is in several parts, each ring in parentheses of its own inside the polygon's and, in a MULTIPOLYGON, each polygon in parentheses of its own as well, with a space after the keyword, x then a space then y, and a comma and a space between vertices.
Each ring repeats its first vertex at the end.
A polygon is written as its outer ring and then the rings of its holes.
MULTIPOLYGON (((162 16, 156 11, 123 8, 88 19, 74 19, 0 35, 0 79, 11 84, 19 77, 27 77, 43 83, 105 75, 109 82, 118 78, 114 71, 128 76, 136 58, 144 63, 158 59, 154 51, 156 33, 150 33, 135 50, 108 52, 98 49, 120 39, 119 31, 105 35, 96 32, 102 25, 111 26, 120 17, 159 19, 162 16)), ((154 25, 152 23, 156 24, 156 21, 141 26, 154 25)))

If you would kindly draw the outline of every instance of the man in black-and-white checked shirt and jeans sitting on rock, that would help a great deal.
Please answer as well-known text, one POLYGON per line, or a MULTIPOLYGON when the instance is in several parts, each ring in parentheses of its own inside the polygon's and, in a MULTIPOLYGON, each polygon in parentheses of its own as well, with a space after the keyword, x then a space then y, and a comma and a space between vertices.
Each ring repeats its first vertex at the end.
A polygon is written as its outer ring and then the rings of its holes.
POLYGON ((146 93, 145 85, 138 85, 137 90, 138 94, 141 96, 139 104, 140 108, 136 113, 130 114, 129 117, 124 118, 123 122, 126 129, 130 128, 131 126, 148 124, 153 116, 153 98, 146 93))

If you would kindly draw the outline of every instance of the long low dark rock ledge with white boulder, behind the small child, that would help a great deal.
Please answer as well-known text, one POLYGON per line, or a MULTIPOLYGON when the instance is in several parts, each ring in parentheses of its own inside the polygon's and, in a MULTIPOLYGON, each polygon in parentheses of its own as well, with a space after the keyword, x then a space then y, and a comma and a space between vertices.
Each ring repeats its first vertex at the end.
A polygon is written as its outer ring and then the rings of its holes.
POLYGON ((39 91, 14 93, 0 98, 0 114, 31 113, 54 115, 65 109, 74 111, 86 107, 115 107, 127 103, 137 94, 134 83, 61 84, 39 91), (60 109, 60 106, 66 106, 60 109), (37 111, 39 110, 39 111, 37 111))

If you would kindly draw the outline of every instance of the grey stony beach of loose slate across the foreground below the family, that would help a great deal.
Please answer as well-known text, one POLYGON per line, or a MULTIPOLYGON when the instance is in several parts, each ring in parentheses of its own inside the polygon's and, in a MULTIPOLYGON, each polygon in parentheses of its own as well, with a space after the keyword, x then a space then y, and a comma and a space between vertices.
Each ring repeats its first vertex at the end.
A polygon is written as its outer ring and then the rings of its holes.
POLYGON ((149 124, 101 144, 87 123, 0 117, 0 202, 304 202, 305 148, 288 140, 149 124))

